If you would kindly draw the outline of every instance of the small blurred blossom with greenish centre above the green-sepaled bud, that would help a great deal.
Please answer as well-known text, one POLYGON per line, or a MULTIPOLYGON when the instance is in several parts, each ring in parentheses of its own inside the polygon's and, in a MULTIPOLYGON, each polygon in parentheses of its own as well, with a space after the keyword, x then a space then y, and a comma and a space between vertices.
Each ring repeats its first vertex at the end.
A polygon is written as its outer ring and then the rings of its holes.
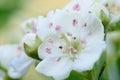
POLYGON ((35 18, 30 18, 24 21, 21 25, 23 32, 26 33, 36 33, 37 20, 35 18))

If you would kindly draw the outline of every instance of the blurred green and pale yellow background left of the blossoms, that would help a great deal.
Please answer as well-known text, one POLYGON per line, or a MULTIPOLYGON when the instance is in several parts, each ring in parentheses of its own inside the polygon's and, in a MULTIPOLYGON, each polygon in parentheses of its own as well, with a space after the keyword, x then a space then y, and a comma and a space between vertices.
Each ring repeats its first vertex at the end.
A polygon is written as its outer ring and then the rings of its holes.
MULTIPOLYGON (((0 0, 0 45, 19 42, 23 21, 63 8, 70 0, 0 0)), ((51 80, 30 68, 24 80, 51 80)))

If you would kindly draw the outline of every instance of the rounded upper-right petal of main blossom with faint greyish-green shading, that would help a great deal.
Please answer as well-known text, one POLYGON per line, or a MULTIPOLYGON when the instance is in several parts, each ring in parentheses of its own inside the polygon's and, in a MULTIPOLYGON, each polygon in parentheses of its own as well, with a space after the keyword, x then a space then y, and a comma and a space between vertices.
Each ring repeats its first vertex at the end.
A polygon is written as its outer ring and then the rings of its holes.
MULTIPOLYGON (((81 38, 85 38, 86 42, 93 42, 95 40, 101 41, 104 39, 104 27, 100 19, 95 14, 86 14, 83 19, 83 24, 86 23, 86 27, 81 30, 81 38)), ((79 32, 80 29, 77 29, 79 32)))

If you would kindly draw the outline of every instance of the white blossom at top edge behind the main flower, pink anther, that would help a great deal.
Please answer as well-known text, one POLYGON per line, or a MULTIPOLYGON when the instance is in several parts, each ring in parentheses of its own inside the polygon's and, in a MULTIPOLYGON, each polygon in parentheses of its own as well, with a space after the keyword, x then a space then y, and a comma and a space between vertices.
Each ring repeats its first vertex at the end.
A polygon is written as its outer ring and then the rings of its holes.
POLYGON ((65 6, 66 11, 76 11, 84 14, 84 12, 93 12, 98 17, 101 16, 101 11, 109 17, 108 10, 102 5, 102 3, 93 0, 72 0, 68 5, 65 6))

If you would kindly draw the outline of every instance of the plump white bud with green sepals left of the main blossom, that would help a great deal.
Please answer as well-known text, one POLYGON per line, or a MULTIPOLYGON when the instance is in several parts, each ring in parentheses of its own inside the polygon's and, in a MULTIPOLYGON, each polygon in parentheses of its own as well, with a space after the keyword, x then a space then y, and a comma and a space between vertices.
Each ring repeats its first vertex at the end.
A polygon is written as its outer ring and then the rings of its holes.
POLYGON ((38 57, 38 47, 42 41, 38 38, 36 34, 30 33, 23 38, 25 53, 34 59, 39 59, 38 57))

